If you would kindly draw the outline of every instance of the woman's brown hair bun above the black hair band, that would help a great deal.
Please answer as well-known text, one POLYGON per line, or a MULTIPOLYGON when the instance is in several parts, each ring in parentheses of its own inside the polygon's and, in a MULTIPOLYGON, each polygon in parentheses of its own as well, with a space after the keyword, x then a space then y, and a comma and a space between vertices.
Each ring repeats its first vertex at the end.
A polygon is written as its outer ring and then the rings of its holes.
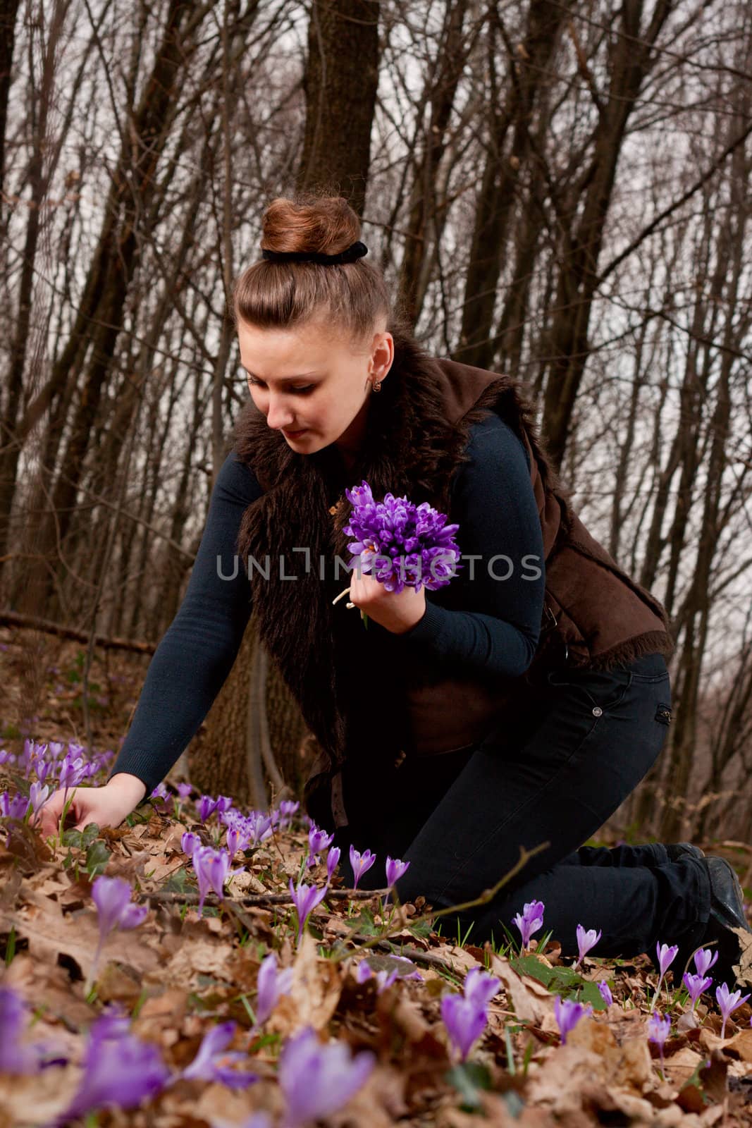
POLYGON ((361 221, 344 196, 297 193, 272 200, 262 220, 262 250, 338 255, 361 235, 361 221))

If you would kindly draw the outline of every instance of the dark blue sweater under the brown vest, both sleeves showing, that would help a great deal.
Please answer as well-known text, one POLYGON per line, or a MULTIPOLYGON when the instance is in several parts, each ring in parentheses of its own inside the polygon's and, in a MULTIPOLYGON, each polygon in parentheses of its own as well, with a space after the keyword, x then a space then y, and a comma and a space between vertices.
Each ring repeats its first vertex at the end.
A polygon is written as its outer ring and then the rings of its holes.
MULTIPOLYGON (((416 661, 430 658, 448 675, 514 678, 532 662, 543 607, 543 544, 528 457, 496 415, 471 428, 468 453, 452 482, 449 513, 459 523, 465 566, 446 588, 426 591, 419 623, 391 637, 416 661), (481 558, 472 563, 469 555, 481 558), (436 599, 460 606, 442 607, 436 599)), ((151 660, 108 778, 127 772, 144 782, 149 795, 222 688, 251 608, 242 564, 238 561, 233 580, 220 573, 232 575, 240 519, 260 494, 253 470, 231 451, 216 476, 185 598, 151 660)))

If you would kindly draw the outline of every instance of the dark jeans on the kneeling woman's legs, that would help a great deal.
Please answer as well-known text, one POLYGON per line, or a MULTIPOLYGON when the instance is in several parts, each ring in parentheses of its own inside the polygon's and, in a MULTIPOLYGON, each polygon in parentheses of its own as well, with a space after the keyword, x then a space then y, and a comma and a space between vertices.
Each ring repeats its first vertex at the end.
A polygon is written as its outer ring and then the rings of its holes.
POLYGON ((478 897, 507 873, 520 846, 548 846, 487 905, 444 918, 444 935, 472 922, 469 942, 504 940, 525 901, 545 904, 565 955, 577 953, 577 924, 600 928, 594 955, 653 952, 656 942, 693 942, 710 911, 710 884, 692 857, 671 862, 661 844, 582 846, 645 776, 663 747, 671 710, 665 661, 648 654, 608 672, 556 671, 534 708, 497 726, 467 751, 408 758, 363 773, 345 766, 347 827, 337 830, 340 869, 348 847, 378 861, 362 889, 386 884, 386 855, 409 861, 402 900, 422 893, 434 908, 478 897))

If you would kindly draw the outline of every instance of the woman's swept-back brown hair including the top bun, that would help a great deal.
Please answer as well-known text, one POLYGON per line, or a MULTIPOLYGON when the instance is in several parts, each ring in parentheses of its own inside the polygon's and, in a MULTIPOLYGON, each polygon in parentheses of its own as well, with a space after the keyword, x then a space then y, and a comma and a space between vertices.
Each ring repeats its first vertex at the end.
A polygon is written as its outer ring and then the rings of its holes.
MULTIPOLYGON (((262 250, 336 255, 360 238, 361 221, 343 196, 300 192, 277 196, 264 212, 262 250)), ((232 289, 232 312, 259 328, 292 328, 325 318, 327 327, 352 341, 373 333, 380 318, 392 319, 387 285, 378 266, 359 258, 326 265, 274 262, 248 266, 232 289)))

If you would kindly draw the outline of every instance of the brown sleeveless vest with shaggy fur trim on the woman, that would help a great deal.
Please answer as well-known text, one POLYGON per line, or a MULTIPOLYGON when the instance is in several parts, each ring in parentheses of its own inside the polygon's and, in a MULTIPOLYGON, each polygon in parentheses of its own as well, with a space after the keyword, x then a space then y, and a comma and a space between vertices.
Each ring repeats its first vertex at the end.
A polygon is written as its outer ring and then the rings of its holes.
MULTIPOLYGON (((501 713, 517 707, 522 688, 536 691, 542 685, 541 675, 552 666, 608 669, 673 649, 658 600, 619 569, 574 513, 570 493, 541 448, 534 409, 521 385, 511 377, 433 359, 409 336, 392 333, 392 368, 382 390, 370 398, 366 440, 348 473, 334 446, 313 455, 295 453, 253 402, 232 434, 239 458, 264 490, 244 514, 236 548, 249 570, 260 640, 318 741, 306 802, 309 813, 329 825, 328 784, 334 781, 334 825, 344 825, 337 769, 353 747, 372 739, 377 721, 384 716, 382 695, 388 696, 386 713, 393 732, 388 755, 405 747, 427 755, 480 739, 501 713), (504 685, 480 684, 461 673, 446 678, 430 661, 400 667, 389 632, 375 624, 365 632, 344 599, 331 605, 348 585, 344 565, 351 537, 342 529, 351 505, 344 500, 330 512, 345 486, 365 478, 377 500, 387 492, 407 494, 449 513, 450 486, 467 460, 470 428, 489 411, 512 426, 528 450, 546 558, 536 656, 522 678, 504 685), (369 699, 378 710, 370 717, 369 699)), ((450 583, 427 598, 451 607, 452 594, 450 583)))

